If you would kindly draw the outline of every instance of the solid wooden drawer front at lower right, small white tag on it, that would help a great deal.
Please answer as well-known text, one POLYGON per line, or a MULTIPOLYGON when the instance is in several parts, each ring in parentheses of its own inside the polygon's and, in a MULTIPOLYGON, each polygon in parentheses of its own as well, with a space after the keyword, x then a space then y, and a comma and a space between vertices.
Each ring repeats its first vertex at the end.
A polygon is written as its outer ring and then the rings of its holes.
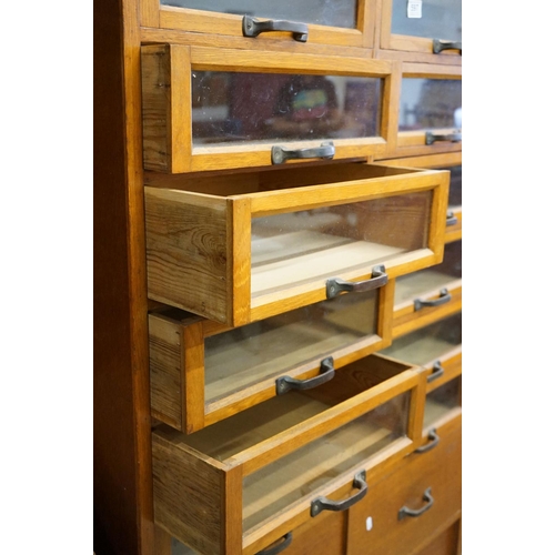
POLYGON ((347 555, 413 555, 433 542, 461 516, 461 426, 406 457, 350 509, 347 555))

